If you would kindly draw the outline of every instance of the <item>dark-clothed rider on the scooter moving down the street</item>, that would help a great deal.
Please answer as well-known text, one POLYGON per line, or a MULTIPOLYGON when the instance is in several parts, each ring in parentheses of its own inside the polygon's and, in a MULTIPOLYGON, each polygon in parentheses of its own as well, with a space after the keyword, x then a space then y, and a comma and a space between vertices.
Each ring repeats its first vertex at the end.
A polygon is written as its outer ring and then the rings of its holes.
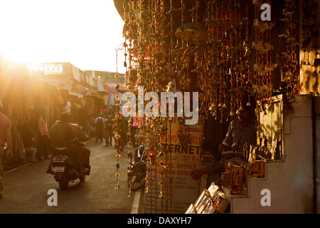
MULTIPOLYGON (((72 125, 68 123, 69 121, 70 115, 63 113, 61 114, 61 120, 55 122, 50 129, 49 138, 53 155, 68 155, 70 160, 80 167, 80 172, 85 172, 87 171, 86 167, 90 167, 90 150, 76 145, 79 138, 77 138, 72 125)), ((51 170, 53 157, 51 156, 47 172, 51 170)))

